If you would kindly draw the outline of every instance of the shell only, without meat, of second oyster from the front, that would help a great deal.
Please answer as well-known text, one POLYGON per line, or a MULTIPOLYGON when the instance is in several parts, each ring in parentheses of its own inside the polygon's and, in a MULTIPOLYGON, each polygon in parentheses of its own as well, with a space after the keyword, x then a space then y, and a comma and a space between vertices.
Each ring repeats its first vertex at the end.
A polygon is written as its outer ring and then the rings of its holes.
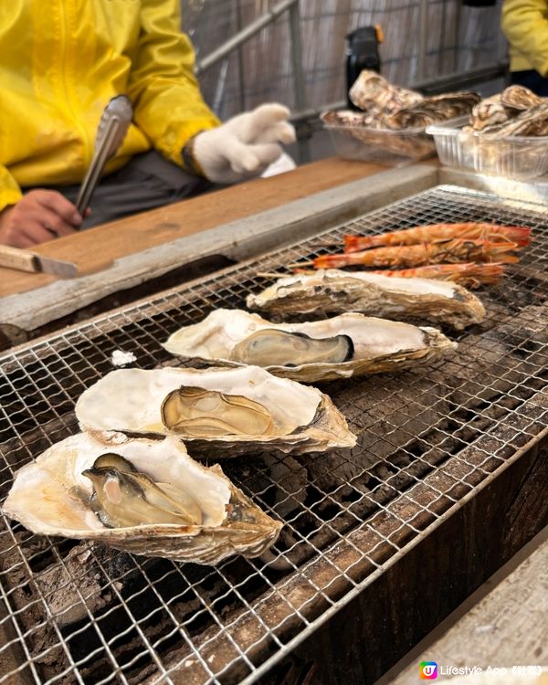
MULTIPOLYGON (((212 400, 216 406, 218 399, 214 396, 212 400)), ((259 449, 302 454, 353 447, 356 442, 344 416, 327 395, 316 388, 278 378, 258 366, 118 369, 80 395, 76 416, 80 426, 90 431, 178 437, 192 454, 205 453, 208 458, 235 457, 259 449), (263 435, 238 432, 209 437, 174 432, 163 423, 163 403, 182 386, 245 397, 269 413, 271 429, 263 435)), ((224 416, 211 418, 222 421, 224 416)), ((106 442, 108 436, 104 432, 98 434, 106 442)))

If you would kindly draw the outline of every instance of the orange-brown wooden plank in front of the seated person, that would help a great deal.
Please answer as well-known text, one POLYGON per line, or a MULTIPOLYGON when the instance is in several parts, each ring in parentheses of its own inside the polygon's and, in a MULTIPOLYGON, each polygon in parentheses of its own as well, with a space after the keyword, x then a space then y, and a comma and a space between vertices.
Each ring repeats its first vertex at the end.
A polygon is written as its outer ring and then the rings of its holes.
MULTIPOLYGON (((72 261, 80 274, 90 274, 104 269, 114 259, 382 171, 386 171, 386 167, 378 164, 329 158, 304 164, 287 174, 237 184, 104 224, 76 236, 61 237, 37 246, 35 251, 46 257, 72 261)), ((0 269, 0 297, 36 290, 55 280, 45 274, 0 269)))

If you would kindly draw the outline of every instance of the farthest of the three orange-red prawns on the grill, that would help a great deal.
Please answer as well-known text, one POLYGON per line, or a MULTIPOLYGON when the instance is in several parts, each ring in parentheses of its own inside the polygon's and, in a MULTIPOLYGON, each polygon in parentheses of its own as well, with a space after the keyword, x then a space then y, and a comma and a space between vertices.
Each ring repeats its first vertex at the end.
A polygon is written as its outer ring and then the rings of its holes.
POLYGON ((405 228, 401 231, 390 231, 380 236, 344 236, 344 251, 357 252, 388 245, 437 243, 454 238, 490 240, 491 242, 511 241, 518 247, 524 248, 531 242, 531 228, 472 221, 461 224, 429 224, 405 228))

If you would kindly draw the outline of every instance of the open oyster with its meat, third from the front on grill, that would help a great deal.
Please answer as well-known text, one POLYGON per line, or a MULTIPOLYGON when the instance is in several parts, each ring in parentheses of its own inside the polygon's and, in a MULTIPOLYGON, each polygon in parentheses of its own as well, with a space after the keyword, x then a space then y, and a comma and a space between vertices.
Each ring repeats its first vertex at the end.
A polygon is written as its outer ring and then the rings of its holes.
POLYGON ((456 344, 433 328, 355 312, 324 321, 271 323, 248 311, 220 309, 174 332, 163 346, 209 364, 246 364, 251 359, 271 374, 311 383, 408 368, 456 344), (327 345, 319 358, 315 345, 321 342, 327 345))

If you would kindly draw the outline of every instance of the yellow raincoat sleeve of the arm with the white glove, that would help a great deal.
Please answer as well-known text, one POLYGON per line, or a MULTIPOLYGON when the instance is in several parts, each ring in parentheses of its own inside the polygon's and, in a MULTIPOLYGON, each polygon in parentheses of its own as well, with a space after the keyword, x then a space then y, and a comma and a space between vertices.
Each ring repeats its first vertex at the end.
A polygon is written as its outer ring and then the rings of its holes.
POLYGON ((180 0, 142 0, 141 36, 132 59, 134 121, 164 157, 183 165, 184 143, 218 126, 194 75, 194 48, 181 32, 180 0))

